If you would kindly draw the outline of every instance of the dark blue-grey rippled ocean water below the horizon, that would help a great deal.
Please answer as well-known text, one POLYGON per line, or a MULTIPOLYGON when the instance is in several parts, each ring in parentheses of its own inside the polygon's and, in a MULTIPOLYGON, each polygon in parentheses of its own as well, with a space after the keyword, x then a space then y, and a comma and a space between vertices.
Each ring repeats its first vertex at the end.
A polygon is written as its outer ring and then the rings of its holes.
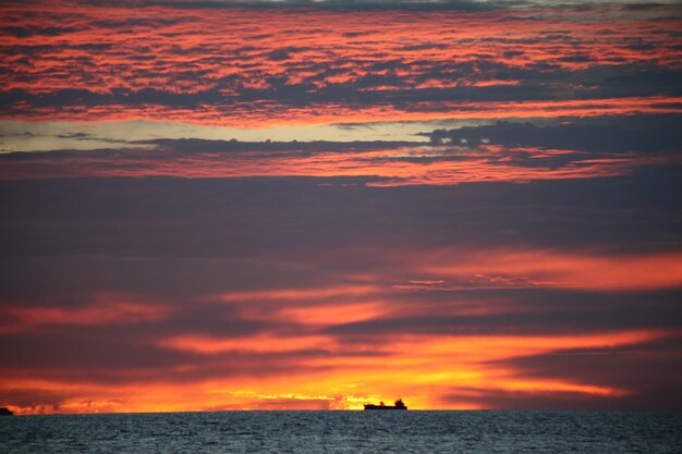
POLYGON ((2 453, 682 453, 682 413, 226 412, 0 418, 2 453))

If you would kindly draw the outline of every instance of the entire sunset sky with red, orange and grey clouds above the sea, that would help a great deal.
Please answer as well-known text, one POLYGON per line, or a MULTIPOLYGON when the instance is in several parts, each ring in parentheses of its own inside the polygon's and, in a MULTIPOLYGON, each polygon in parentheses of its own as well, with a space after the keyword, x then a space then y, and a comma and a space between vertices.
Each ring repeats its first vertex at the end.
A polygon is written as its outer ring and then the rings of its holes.
POLYGON ((0 3, 0 406, 682 410, 680 30, 0 3))

